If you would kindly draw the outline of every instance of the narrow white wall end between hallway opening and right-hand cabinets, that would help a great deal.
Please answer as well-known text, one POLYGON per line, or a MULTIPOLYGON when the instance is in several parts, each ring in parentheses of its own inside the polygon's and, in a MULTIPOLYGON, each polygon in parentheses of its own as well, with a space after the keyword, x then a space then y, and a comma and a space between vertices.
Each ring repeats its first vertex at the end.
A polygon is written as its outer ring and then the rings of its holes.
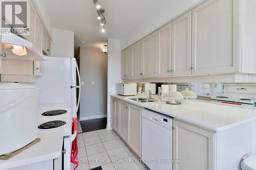
POLYGON ((121 80, 121 51, 120 41, 108 39, 108 129, 110 126, 110 94, 116 92, 116 83, 121 80))

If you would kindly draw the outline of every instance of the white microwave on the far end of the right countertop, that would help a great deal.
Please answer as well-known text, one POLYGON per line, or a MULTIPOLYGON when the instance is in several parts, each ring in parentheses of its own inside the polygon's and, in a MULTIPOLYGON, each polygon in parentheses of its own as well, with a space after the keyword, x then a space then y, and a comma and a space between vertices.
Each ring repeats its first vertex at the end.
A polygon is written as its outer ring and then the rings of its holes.
POLYGON ((136 95, 137 83, 117 83, 116 93, 120 95, 136 95))

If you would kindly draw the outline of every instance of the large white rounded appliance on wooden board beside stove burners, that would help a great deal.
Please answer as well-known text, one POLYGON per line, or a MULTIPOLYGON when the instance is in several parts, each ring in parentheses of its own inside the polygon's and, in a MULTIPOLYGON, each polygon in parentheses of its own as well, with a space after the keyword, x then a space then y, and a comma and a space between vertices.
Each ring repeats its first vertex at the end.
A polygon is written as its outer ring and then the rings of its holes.
POLYGON ((0 96, 0 155, 4 155, 37 138, 39 88, 0 83, 0 96))

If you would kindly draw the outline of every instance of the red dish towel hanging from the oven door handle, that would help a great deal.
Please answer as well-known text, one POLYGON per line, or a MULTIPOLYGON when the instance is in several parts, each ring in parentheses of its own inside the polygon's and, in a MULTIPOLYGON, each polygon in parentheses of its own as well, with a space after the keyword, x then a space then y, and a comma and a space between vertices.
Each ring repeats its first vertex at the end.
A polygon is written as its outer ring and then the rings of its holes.
POLYGON ((73 118, 73 125, 72 125, 72 134, 74 134, 76 131, 76 138, 75 140, 72 141, 72 148, 71 148, 71 163, 74 163, 76 166, 74 169, 77 168, 79 161, 77 159, 78 155, 78 145, 77 145, 77 140, 78 140, 78 131, 77 131, 77 118, 73 118))

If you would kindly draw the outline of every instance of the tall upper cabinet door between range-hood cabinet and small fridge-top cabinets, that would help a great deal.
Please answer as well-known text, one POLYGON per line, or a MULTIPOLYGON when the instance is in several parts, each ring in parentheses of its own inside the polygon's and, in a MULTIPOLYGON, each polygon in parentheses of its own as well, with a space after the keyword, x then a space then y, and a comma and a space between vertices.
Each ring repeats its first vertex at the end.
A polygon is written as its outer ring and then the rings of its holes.
POLYGON ((35 16, 34 44, 42 52, 42 25, 37 15, 35 16))

